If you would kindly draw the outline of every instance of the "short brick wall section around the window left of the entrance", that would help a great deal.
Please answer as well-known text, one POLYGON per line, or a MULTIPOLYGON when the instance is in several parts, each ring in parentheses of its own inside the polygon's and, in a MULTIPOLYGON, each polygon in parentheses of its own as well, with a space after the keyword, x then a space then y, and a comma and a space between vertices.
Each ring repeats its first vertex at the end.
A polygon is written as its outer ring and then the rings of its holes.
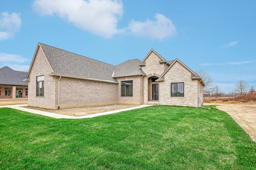
POLYGON ((121 77, 116 78, 116 80, 119 82, 117 87, 117 101, 118 104, 141 104, 141 84, 140 84, 140 78, 141 76, 128 76, 128 77, 121 77), (132 84, 132 91, 133 96, 121 96, 121 81, 128 81, 133 80, 132 84))

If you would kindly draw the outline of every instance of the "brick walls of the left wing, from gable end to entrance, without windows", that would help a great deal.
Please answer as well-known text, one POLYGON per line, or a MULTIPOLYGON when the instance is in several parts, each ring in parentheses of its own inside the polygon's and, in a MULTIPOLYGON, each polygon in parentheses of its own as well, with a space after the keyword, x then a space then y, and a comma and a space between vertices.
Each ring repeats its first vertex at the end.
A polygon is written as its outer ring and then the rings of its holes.
MULTIPOLYGON (((58 108, 58 76, 52 72, 42 50, 34 59, 28 82, 28 106, 58 108), (44 75, 44 96, 36 96, 36 77, 44 75)), ((140 77, 117 78, 119 84, 62 77, 60 79, 60 109, 110 104, 140 104, 140 77), (121 97, 121 81, 133 80, 133 96, 121 97)))

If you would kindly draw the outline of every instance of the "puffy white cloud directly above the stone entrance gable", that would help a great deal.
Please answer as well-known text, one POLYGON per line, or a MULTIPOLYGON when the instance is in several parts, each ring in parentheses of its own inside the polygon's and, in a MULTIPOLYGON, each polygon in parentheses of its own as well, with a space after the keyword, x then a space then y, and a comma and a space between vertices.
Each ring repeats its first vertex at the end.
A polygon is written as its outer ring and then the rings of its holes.
POLYGON ((152 39, 164 39, 176 35, 175 26, 162 14, 155 15, 156 21, 130 21, 128 29, 134 35, 152 39))

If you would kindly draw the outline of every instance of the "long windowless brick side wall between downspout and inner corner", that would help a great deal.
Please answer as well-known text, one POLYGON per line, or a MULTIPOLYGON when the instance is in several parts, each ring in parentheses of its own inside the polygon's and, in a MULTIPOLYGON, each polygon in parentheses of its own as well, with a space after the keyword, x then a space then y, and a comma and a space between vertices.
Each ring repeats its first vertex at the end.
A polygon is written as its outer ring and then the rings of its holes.
POLYGON ((113 83, 62 77, 60 109, 117 104, 116 88, 113 83))

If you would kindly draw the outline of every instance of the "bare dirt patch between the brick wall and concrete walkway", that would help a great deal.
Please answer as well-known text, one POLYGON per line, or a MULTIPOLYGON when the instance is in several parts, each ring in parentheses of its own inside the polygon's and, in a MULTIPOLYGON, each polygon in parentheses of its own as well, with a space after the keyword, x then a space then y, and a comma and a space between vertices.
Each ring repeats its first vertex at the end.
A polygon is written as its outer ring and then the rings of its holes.
POLYGON ((120 105, 109 105, 109 106, 96 106, 96 107, 83 107, 83 108, 72 108, 72 109, 45 109, 41 107, 32 107, 32 106, 24 106, 29 109, 37 109, 41 111, 47 111, 51 113, 58 113, 62 115, 69 115, 69 116, 84 116, 84 115, 91 115, 95 113, 103 113, 106 111, 113 111, 119 109, 126 109, 130 107, 137 107, 140 105, 127 105, 127 104, 120 104, 120 105))

